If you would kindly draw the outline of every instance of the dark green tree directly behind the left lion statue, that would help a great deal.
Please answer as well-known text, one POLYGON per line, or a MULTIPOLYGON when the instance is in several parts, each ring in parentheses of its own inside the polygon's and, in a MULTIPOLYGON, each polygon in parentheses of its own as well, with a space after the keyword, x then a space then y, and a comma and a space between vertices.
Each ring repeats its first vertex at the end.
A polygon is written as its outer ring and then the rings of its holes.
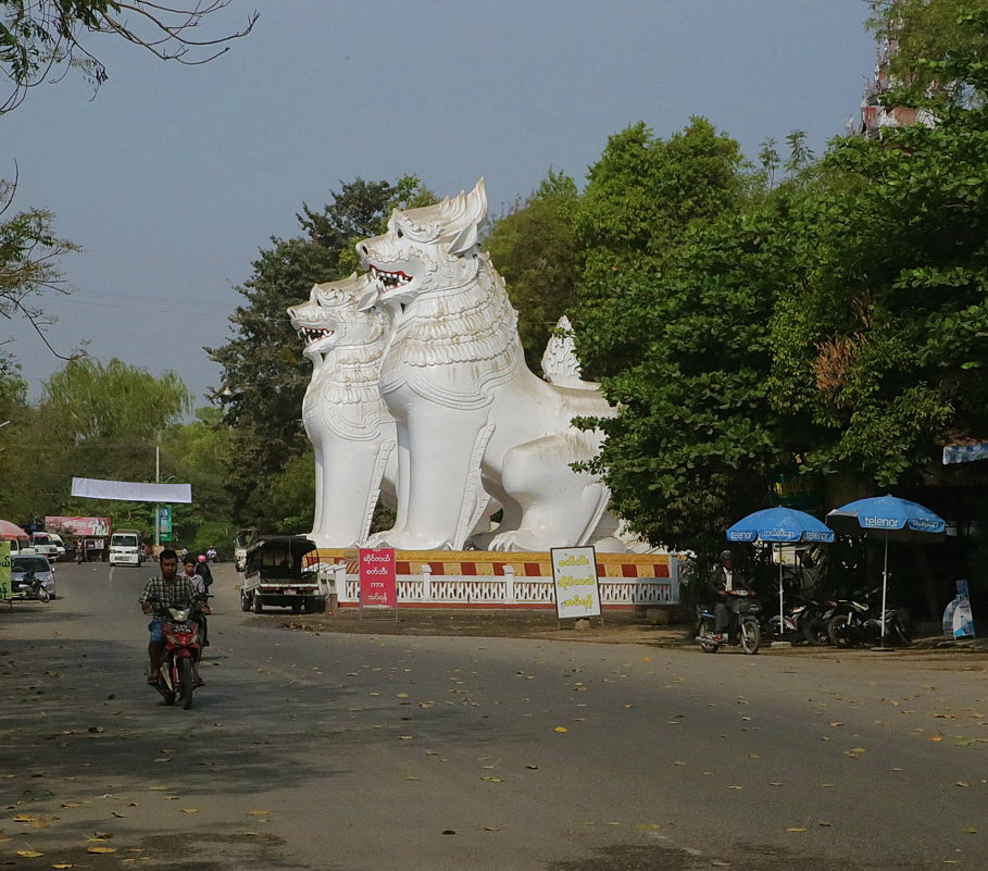
POLYGON ((309 447, 300 418, 311 364, 302 357, 288 307, 308 298, 313 284, 352 272, 354 244, 380 233, 393 208, 434 200, 414 176, 393 184, 358 178, 334 191, 322 212, 303 207, 298 217, 305 237, 273 238, 273 247, 254 261, 253 275, 239 288, 246 303, 230 316, 234 337, 207 349, 223 369, 215 399, 224 425, 234 430, 227 473, 238 523, 295 528, 298 518, 297 505, 283 512, 272 494, 286 463, 309 447))

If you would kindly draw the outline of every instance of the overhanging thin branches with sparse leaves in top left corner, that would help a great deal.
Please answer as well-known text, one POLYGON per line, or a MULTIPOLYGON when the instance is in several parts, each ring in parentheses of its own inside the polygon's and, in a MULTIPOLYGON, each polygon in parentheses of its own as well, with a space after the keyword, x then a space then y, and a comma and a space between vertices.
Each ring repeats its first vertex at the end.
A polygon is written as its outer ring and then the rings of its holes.
POLYGON ((0 1, 0 70, 11 94, 0 114, 20 105, 28 88, 61 76, 49 74, 66 66, 83 73, 99 87, 109 78, 107 67, 86 45, 87 34, 113 34, 147 49, 161 60, 187 65, 207 63, 228 50, 226 43, 247 36, 258 20, 225 36, 207 37, 203 25, 229 0, 196 0, 163 5, 146 0, 2 0, 0 1))

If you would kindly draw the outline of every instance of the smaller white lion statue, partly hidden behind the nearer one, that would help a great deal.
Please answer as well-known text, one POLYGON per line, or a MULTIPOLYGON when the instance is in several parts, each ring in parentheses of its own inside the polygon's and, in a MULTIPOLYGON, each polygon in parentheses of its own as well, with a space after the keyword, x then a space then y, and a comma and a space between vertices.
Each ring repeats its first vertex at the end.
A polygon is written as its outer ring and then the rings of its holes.
POLYGON ((305 343, 312 379, 302 401, 315 451, 315 517, 320 547, 357 547, 367 537, 378 496, 395 506, 397 434, 378 388, 386 340, 380 311, 358 311, 365 275, 317 284, 308 302, 288 309, 305 343))

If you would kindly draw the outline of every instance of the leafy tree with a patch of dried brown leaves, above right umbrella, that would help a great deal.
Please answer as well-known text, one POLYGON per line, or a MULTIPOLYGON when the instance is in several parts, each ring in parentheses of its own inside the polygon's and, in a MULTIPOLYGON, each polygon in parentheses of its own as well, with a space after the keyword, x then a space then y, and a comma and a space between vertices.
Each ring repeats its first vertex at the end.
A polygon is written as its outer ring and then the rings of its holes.
MULTIPOLYGON (((988 48, 988 17, 960 26, 965 52, 988 48)), ((984 94, 983 64, 958 58, 958 84, 984 94)), ((917 482, 945 441, 988 438, 986 122, 953 107, 933 128, 839 141, 789 200, 773 395, 813 427, 809 468, 917 482)))

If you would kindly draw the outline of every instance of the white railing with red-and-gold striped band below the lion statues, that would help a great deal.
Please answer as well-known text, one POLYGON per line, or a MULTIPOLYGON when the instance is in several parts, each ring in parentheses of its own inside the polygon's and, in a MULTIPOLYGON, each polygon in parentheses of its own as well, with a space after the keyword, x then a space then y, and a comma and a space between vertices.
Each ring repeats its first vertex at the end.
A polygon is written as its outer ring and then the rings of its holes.
MULTIPOLYGON (((321 549, 321 574, 343 607, 360 604, 357 551, 321 549)), ((421 608, 553 608, 548 553, 396 551, 399 605, 421 608)), ((679 601, 668 553, 598 553, 601 602, 611 609, 679 601)))

